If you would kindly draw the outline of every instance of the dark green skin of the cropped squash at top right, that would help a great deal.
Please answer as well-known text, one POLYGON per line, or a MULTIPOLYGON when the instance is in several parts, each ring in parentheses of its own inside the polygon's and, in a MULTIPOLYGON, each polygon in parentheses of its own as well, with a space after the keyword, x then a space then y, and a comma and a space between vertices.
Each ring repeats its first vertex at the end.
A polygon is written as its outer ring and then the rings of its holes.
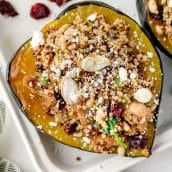
POLYGON ((163 46, 163 43, 157 38, 155 32, 153 31, 153 28, 149 24, 149 18, 147 16, 144 0, 137 0, 136 6, 137 6, 137 11, 139 14, 141 25, 143 26, 147 35, 150 37, 150 40, 153 43, 155 43, 164 54, 172 58, 172 49, 169 48, 170 49, 169 50, 165 46, 163 46))

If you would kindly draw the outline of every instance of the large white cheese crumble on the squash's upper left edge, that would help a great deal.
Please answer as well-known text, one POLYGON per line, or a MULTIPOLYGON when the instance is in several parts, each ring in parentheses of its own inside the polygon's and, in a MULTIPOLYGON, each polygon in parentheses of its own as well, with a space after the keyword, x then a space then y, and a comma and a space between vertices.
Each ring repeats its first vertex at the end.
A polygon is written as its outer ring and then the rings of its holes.
POLYGON ((34 31, 31 40, 31 47, 35 49, 39 45, 43 45, 44 42, 43 33, 41 31, 34 31))

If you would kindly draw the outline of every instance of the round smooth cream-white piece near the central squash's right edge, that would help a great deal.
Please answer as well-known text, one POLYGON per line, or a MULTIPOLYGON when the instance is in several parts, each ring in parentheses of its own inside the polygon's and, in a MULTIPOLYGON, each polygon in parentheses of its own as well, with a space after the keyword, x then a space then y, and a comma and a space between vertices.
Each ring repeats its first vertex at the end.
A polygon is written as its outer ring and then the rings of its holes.
POLYGON ((134 98, 140 103, 148 103, 152 99, 152 92, 148 88, 140 88, 135 92, 134 98))

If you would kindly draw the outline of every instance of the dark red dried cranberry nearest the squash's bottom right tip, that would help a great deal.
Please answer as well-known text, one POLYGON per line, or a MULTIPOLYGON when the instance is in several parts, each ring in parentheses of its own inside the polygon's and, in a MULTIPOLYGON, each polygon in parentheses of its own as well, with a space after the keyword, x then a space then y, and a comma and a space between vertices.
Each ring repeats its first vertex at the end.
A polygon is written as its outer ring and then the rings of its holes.
POLYGON ((128 136, 127 140, 129 147, 134 149, 144 149, 148 142, 148 138, 145 135, 128 136))

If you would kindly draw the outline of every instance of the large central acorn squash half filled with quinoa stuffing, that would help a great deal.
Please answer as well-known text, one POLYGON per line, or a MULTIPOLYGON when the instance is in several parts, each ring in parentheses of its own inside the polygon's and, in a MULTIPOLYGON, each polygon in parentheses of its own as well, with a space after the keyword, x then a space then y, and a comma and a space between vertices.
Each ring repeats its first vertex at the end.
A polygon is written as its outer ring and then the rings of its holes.
POLYGON ((25 115, 55 140, 90 152, 151 154, 161 62, 139 25, 114 8, 68 7, 17 51, 8 81, 25 115))

